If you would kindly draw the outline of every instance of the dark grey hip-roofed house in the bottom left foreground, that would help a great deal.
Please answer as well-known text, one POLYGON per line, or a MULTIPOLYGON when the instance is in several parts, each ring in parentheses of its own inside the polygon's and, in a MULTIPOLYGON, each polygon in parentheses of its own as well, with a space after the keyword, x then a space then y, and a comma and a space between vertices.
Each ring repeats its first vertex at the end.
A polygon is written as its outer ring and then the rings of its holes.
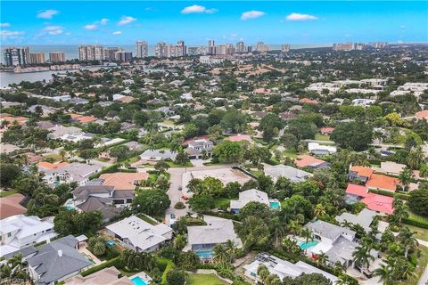
POLYGON ((88 269, 92 263, 78 253, 72 235, 37 248, 28 258, 29 276, 37 285, 53 285, 88 269))

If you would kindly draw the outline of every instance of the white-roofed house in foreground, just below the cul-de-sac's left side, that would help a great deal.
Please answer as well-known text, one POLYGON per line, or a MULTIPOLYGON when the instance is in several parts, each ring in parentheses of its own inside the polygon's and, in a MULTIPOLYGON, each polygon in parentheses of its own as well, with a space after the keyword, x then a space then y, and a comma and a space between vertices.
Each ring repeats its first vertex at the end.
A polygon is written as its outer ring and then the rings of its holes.
POLYGON ((109 234, 138 252, 152 252, 172 239, 172 229, 166 224, 149 224, 137 216, 129 216, 106 226, 109 234))

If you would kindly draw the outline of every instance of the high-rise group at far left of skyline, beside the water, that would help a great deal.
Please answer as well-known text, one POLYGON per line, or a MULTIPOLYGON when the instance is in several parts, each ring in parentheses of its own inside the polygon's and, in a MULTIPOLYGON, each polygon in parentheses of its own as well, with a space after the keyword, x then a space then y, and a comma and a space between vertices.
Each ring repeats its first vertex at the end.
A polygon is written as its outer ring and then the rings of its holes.
MULTIPOLYGON (((57 63, 64 61, 64 53, 49 53, 49 62, 57 63)), ((30 64, 43 64, 45 62, 45 53, 30 53, 28 46, 4 48, 4 64, 6 66, 25 66, 30 64)))

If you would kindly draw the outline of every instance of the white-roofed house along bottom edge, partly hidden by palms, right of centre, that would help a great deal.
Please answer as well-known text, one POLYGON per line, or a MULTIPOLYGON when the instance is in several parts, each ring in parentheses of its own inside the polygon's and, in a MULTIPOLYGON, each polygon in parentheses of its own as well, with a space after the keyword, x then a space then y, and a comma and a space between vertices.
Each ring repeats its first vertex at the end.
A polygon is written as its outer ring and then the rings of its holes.
POLYGON ((332 284, 335 284, 338 281, 338 278, 333 274, 326 273, 318 269, 315 266, 304 263, 303 261, 299 261, 296 264, 292 264, 289 261, 280 259, 276 256, 272 256, 268 253, 259 253, 256 256, 256 259, 248 265, 243 265, 243 273, 245 276, 250 278, 253 281, 261 282, 258 275, 259 265, 265 265, 268 268, 269 273, 276 274, 281 281, 284 280, 285 277, 296 278, 301 274, 311 274, 318 273, 323 275, 325 278, 330 280, 332 284))

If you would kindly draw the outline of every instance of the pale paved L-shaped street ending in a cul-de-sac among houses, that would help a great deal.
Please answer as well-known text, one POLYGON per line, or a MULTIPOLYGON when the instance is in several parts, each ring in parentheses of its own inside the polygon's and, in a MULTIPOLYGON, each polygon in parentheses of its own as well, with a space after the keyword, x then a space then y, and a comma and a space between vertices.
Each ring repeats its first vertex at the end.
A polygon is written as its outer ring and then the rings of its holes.
POLYGON ((198 165, 197 167, 180 167, 180 168, 169 168, 168 172, 171 175, 169 182, 169 191, 168 196, 171 200, 171 206, 169 209, 167 209, 165 213, 165 221, 166 224, 169 224, 171 214, 174 214, 176 216, 176 219, 180 216, 185 216, 187 214, 188 208, 183 209, 177 209, 174 208, 177 202, 182 201, 185 202, 184 199, 181 199, 182 192, 178 191, 178 187, 183 186, 182 185, 182 175, 186 171, 193 171, 193 170, 207 170, 207 169, 218 169, 218 168, 225 168, 225 167, 231 167, 231 165, 216 165, 216 166, 210 166, 206 167, 202 165, 201 163, 196 162, 195 165, 198 165))

